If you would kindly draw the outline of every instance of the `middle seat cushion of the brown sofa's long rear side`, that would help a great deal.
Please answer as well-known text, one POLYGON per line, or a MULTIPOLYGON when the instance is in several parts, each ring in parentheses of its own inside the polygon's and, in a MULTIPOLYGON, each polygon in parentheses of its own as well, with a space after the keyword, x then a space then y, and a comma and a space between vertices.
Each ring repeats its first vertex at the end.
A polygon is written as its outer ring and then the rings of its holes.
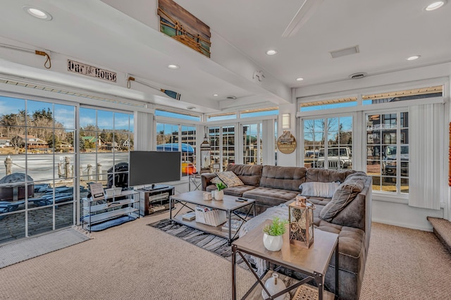
POLYGON ((256 187, 242 194, 243 197, 256 199, 257 203, 268 206, 277 206, 286 201, 295 199, 297 192, 285 189, 270 189, 267 187, 256 187))

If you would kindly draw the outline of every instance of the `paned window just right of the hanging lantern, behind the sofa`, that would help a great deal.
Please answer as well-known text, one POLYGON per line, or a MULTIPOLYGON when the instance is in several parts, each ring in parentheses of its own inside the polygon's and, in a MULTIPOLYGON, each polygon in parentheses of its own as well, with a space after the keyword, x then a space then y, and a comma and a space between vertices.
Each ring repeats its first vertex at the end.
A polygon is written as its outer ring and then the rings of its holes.
POLYGON ((235 126, 209 127, 211 158, 226 170, 229 163, 235 163, 235 126))

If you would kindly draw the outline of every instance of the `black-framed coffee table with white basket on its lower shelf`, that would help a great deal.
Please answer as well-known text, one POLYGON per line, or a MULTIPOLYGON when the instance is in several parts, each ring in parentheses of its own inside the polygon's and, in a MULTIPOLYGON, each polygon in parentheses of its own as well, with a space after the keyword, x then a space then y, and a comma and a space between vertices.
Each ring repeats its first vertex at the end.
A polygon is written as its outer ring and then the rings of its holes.
POLYGON ((195 204, 195 205, 201 205, 206 206, 209 208, 219 209, 221 211, 226 211, 227 213, 227 219, 230 220, 232 216, 236 216, 240 220, 246 222, 247 217, 249 216, 249 213, 252 211, 253 215, 256 215, 255 211, 255 200, 253 199, 247 199, 245 202, 237 202, 235 200, 238 199, 236 196, 230 196, 230 195, 224 195, 223 200, 204 200, 203 199, 204 191, 192 191, 192 192, 186 192, 182 194, 173 195, 169 198, 169 207, 173 207, 171 205, 180 203, 182 204, 182 207, 178 209, 178 211, 175 212, 175 215, 173 215, 172 211, 169 211, 169 218, 177 223, 187 225, 199 230, 203 230, 204 232, 209 232, 213 235, 217 235, 219 237, 225 237, 228 239, 228 244, 230 245, 231 242, 237 238, 238 232, 240 231, 240 228, 235 232, 234 235, 232 235, 231 227, 229 226, 228 231, 223 231, 221 228, 221 225, 219 226, 212 226, 212 225, 206 225, 203 223, 198 223, 195 220, 183 220, 182 215, 178 215, 180 213, 181 209, 183 207, 187 207, 190 210, 189 206, 187 204, 195 204), (246 215, 243 217, 242 215, 239 215, 236 213, 237 209, 248 207, 246 215))

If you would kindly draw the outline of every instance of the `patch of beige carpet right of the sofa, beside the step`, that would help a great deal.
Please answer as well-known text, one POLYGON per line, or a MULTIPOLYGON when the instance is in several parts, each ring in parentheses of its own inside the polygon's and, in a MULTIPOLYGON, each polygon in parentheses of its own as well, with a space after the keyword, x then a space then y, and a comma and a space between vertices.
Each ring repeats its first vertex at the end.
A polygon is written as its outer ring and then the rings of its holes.
POLYGON ((360 299, 451 299, 451 256, 432 232, 373 223, 360 299))

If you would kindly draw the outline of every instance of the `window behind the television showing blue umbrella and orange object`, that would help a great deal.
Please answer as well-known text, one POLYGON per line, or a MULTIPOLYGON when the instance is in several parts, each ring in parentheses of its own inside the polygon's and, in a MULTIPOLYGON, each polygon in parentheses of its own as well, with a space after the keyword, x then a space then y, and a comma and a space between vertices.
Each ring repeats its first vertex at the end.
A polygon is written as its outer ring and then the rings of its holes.
POLYGON ((182 175, 197 172, 196 127, 156 123, 156 151, 181 151, 182 175))

